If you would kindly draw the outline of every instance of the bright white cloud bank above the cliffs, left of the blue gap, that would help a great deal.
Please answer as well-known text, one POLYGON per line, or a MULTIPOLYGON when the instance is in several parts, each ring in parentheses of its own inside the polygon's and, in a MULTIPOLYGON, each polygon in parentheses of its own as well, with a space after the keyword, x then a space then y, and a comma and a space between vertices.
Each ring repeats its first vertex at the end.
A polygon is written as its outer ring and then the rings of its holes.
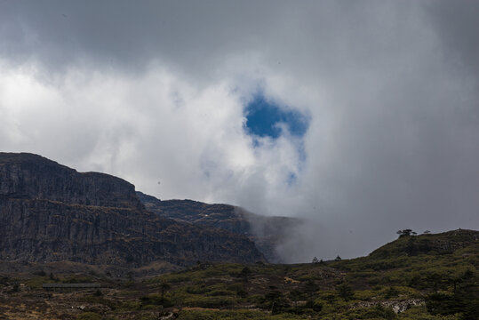
POLYGON ((228 82, 198 89, 158 66, 134 77, 72 68, 50 84, 35 72, 3 71, 2 127, 16 124, 4 149, 119 175, 161 198, 235 204, 253 177, 270 193, 298 172, 293 138, 253 148, 243 97, 228 82))

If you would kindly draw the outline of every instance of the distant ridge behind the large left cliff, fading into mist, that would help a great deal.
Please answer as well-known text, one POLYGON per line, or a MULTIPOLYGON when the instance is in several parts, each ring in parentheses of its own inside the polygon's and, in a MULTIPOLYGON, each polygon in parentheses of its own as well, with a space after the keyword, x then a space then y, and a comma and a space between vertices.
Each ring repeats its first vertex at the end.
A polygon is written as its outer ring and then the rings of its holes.
POLYGON ((148 211, 158 216, 209 228, 222 228, 248 236, 270 262, 283 262, 276 252, 291 231, 302 223, 287 217, 267 217, 230 204, 204 204, 193 200, 159 200, 137 191, 148 211))

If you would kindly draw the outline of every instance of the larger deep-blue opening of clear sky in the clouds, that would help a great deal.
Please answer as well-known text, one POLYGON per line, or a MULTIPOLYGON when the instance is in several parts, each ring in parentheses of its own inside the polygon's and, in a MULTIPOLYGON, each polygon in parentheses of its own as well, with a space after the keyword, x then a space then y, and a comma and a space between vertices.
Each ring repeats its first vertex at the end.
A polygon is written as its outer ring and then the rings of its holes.
POLYGON ((309 118, 299 111, 280 108, 274 101, 258 94, 245 107, 245 130, 259 137, 279 138, 282 133, 277 124, 285 124, 293 136, 302 137, 307 132, 309 118))

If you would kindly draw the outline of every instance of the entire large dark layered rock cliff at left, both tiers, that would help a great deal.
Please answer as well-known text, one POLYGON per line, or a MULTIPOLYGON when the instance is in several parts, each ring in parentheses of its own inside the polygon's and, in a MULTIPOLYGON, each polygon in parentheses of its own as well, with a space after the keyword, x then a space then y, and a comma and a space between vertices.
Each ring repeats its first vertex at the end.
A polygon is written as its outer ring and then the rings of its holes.
POLYGON ((0 153, 0 260, 141 266, 264 258, 245 236, 147 212, 127 181, 0 153))

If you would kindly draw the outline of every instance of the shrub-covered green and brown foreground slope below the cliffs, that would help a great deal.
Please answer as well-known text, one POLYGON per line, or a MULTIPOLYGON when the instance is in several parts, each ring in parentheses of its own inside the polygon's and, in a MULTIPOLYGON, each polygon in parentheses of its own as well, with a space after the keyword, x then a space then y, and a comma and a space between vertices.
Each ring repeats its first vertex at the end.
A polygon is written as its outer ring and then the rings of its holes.
POLYGON ((379 248, 387 254, 376 251, 352 260, 201 263, 171 274, 137 278, 134 273, 122 280, 100 273, 4 274, 0 318, 476 320, 478 237, 473 230, 403 236, 379 248), (408 252, 408 243, 425 241, 451 250, 408 252), (45 282, 104 287, 97 292, 43 292, 45 282))

